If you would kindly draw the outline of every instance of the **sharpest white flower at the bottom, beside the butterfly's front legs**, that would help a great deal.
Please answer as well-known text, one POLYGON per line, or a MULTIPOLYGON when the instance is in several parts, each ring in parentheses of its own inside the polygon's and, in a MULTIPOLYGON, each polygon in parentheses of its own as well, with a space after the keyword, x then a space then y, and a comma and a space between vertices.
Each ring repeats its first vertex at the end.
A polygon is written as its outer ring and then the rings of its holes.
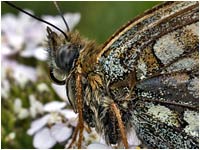
POLYGON ((72 113, 72 116, 63 115, 63 112, 66 112, 65 106, 65 102, 59 101, 49 102, 43 106, 48 114, 33 121, 31 128, 27 131, 29 135, 34 135, 33 146, 35 148, 51 148, 57 142, 64 142, 72 135, 72 127, 68 125, 70 117, 76 117, 76 115, 72 113))

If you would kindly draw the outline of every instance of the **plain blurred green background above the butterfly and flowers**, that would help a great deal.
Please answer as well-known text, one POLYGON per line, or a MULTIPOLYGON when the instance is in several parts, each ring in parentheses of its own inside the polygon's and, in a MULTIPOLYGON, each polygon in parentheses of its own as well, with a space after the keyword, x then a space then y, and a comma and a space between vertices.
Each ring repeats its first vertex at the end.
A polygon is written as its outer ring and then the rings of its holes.
MULTIPOLYGON (((98 43, 105 42, 118 28, 136 15, 141 14, 147 9, 161 2, 64 2, 60 1, 59 5, 64 12, 79 12, 81 21, 76 29, 85 37, 96 40, 98 43)), ((21 8, 33 10, 40 16, 44 14, 58 15, 53 2, 14 2, 21 8)), ((15 13, 18 11, 2 3, 2 14, 15 13)), ((45 31, 44 31, 45 32, 45 31)))

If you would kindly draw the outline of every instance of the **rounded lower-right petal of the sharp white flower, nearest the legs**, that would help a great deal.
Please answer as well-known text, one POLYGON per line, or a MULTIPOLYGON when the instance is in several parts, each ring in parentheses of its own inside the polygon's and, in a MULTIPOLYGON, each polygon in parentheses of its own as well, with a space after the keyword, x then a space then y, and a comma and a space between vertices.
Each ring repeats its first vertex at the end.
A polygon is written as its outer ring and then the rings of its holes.
POLYGON ((65 124, 57 123, 51 128, 52 136, 58 142, 64 142, 72 135, 72 128, 67 127, 65 124))

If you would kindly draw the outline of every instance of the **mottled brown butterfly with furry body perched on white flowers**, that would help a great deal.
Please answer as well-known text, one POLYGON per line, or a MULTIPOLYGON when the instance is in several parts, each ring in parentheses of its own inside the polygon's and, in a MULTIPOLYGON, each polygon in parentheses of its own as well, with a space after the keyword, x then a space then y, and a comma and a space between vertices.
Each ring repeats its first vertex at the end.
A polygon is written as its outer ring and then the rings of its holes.
POLYGON ((79 117, 70 146, 81 148, 87 124, 111 146, 128 148, 134 129, 147 148, 199 148, 198 22, 198 2, 184 1, 144 12, 103 46, 48 27, 50 76, 79 117))

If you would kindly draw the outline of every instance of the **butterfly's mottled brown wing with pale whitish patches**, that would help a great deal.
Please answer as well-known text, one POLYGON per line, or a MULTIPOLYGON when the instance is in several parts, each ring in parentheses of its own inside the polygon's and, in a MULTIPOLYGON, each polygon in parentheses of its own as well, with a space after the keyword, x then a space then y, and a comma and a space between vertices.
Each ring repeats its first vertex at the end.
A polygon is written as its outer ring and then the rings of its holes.
POLYGON ((164 3, 120 29, 98 55, 101 92, 149 148, 199 147, 198 21, 198 2, 164 3))

